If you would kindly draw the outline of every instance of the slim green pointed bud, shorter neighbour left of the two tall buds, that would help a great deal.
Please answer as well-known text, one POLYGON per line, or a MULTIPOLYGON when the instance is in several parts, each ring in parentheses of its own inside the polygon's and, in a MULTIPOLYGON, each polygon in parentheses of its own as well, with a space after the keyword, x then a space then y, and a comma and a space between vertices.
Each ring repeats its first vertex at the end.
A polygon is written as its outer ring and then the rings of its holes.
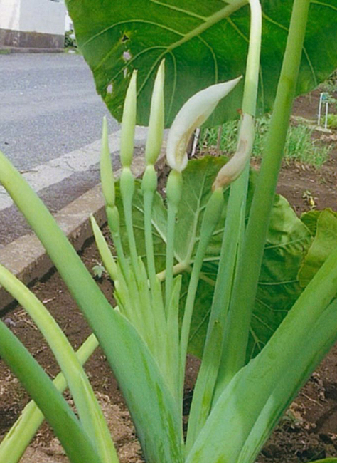
POLYGON ((109 150, 109 138, 107 132, 107 118, 103 118, 102 126, 102 150, 100 159, 100 174, 102 182, 102 192, 107 206, 114 206, 114 172, 109 150))

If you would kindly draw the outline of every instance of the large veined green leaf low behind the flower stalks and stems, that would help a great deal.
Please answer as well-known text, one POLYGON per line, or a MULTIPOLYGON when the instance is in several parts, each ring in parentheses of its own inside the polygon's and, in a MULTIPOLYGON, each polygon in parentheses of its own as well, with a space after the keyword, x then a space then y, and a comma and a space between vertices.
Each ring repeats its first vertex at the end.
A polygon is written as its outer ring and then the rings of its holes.
MULTIPOLYGON (((183 264, 185 269, 181 306, 185 301, 190 276, 188 267, 193 265, 205 204, 210 196, 215 175, 224 162, 224 157, 208 156, 201 160, 188 162, 188 167, 183 172, 183 195, 178 209, 175 240, 176 263, 183 264)), ((247 212, 250 208, 254 184, 255 172, 251 172, 247 212)), ((119 194, 117 193, 117 204, 119 201, 119 194)), ((215 277, 218 271, 227 201, 228 195, 225 193, 223 219, 215 229, 208 246, 202 277, 198 285, 189 346, 190 352, 198 356, 202 353, 205 341, 215 277)), ((159 194, 156 195, 152 211, 156 271, 161 271, 165 266, 166 208, 164 200, 159 194)), ((144 207, 139 187, 134 197, 133 218, 137 250, 141 256, 144 256, 144 207)), ((121 235, 125 239, 124 245, 127 246, 123 215, 121 216, 121 227, 121 235)), ((255 301, 248 358, 262 349, 301 293, 297 274, 311 241, 312 236, 309 229, 296 217, 287 200, 281 196, 276 196, 255 301)))

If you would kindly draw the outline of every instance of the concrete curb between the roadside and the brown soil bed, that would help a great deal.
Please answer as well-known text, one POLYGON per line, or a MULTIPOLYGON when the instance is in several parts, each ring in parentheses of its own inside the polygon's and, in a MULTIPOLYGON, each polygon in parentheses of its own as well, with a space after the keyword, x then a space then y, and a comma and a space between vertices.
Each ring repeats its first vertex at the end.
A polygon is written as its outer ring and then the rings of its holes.
MULTIPOLYGON (((159 166, 163 164, 164 149, 157 162, 159 166)), ((120 169, 114 172, 115 177, 119 178, 120 172, 120 169)), ((134 158, 132 172, 135 177, 141 177, 144 172, 143 156, 134 158)), ((92 237, 91 214, 95 215, 100 227, 106 223, 105 206, 100 184, 97 184, 54 214, 56 222, 58 222, 58 225, 68 236, 77 251, 82 249, 85 241, 92 237)), ((31 234, 21 236, 1 249, 1 264, 26 285, 41 279, 50 269, 53 269, 53 263, 50 261, 42 244, 35 235, 31 234)), ((0 313, 6 311, 7 306, 13 301, 14 298, 0 286, 0 313)))

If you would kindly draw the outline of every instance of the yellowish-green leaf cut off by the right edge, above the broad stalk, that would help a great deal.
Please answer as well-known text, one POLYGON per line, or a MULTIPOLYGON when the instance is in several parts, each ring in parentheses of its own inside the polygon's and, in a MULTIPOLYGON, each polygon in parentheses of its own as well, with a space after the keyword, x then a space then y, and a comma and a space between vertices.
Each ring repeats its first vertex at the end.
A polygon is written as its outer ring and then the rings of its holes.
POLYGON ((337 213, 325 209, 316 222, 313 243, 299 269, 299 283, 305 287, 337 246, 337 213))

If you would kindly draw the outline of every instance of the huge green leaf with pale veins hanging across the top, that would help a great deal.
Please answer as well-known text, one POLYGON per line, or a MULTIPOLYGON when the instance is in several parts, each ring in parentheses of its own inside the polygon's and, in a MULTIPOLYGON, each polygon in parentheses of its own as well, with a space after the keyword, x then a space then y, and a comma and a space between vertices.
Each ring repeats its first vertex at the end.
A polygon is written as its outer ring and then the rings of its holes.
MULTIPOLYGON (((139 69, 138 122, 146 125, 156 68, 166 58, 166 125, 196 91, 245 73, 249 7, 245 0, 68 0, 77 43, 97 91, 118 120, 132 69, 139 69), (228 4, 242 8, 226 16, 228 4)), ((270 110, 282 63, 292 0, 262 0, 260 110, 270 110)), ((311 1, 297 93, 337 67, 337 1, 311 1), (327 46, 328 44, 328 46, 327 46)), ((233 118, 243 84, 208 122, 233 118)))

